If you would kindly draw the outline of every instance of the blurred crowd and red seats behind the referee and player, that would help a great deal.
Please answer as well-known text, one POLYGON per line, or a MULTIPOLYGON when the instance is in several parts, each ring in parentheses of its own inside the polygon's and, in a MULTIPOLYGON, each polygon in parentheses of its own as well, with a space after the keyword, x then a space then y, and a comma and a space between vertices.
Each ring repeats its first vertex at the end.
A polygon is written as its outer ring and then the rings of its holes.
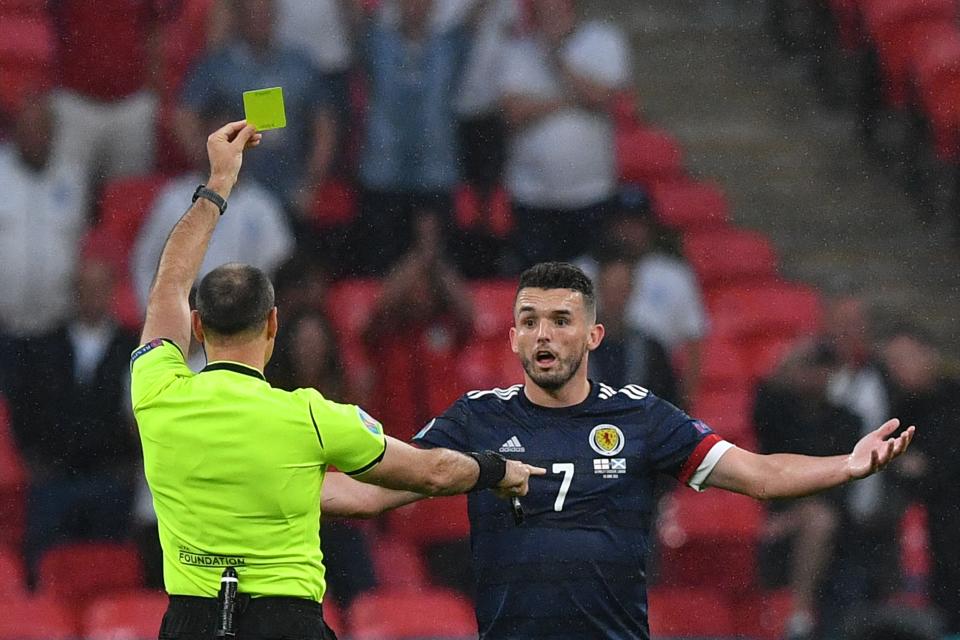
MULTIPOLYGON (((920 637, 960 634, 960 385, 936 340, 912 318, 877 326, 864 291, 781 278, 770 242, 735 227, 723 192, 643 119, 626 35, 578 4, 3 3, 0 639, 22 637, 18 620, 101 637, 157 611, 128 357, 205 170, 184 141, 241 115, 243 90, 277 85, 288 127, 249 155, 201 272, 245 261, 274 277, 275 385, 362 402, 408 439, 464 391, 519 381, 511 278, 574 261, 607 327, 596 379, 646 386, 765 452, 848 449, 887 415, 921 429, 916 453, 835 494, 757 505, 665 485, 656 633, 840 637, 882 609, 920 637)), ((793 4, 770 3, 786 46, 832 33, 830 14, 791 20, 821 3, 793 4)), ((950 4, 915 22, 960 42, 950 4)), ((940 183, 913 170, 923 136, 883 135, 907 102, 870 97, 886 87, 876 42, 865 139, 936 206, 940 183)), ((952 147, 934 145, 923 157, 949 175, 952 147)), ((190 357, 203 366, 198 346, 190 357)), ((323 526, 342 635, 471 633, 462 500, 323 526)))

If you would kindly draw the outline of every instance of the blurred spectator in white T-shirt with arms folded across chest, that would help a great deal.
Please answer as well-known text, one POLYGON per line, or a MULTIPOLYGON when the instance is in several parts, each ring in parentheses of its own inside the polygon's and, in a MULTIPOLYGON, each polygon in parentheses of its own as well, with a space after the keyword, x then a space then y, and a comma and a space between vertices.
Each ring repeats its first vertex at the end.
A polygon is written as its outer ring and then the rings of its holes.
POLYGON ((616 192, 607 109, 630 78, 619 29, 584 21, 574 0, 532 9, 533 33, 508 47, 500 70, 518 270, 588 248, 616 192))

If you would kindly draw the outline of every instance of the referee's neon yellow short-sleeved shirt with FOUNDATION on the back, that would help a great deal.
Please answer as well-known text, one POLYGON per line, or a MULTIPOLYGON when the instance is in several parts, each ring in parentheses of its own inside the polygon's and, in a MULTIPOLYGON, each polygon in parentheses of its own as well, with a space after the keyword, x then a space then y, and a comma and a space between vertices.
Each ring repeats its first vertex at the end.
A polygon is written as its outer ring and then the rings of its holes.
POLYGON ((314 389, 274 389, 246 365, 194 374, 166 340, 134 351, 130 366, 167 592, 216 596, 235 566, 241 592, 321 601, 324 473, 376 465, 380 424, 314 389))

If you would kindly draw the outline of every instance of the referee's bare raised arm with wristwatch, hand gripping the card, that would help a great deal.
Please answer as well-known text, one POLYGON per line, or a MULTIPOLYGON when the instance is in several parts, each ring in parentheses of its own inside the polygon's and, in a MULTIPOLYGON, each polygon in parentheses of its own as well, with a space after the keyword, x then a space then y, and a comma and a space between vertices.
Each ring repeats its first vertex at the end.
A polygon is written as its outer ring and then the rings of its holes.
POLYGON ((190 344, 190 287, 237 182, 243 152, 260 144, 260 138, 261 134, 244 120, 224 125, 207 138, 210 179, 197 190, 193 205, 167 238, 147 300, 141 343, 165 338, 186 353, 190 344))

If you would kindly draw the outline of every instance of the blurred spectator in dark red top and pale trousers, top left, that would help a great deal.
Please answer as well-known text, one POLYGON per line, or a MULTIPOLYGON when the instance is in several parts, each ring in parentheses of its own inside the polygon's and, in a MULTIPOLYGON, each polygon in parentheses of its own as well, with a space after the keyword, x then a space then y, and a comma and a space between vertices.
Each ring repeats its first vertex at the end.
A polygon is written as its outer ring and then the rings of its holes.
POLYGON ((88 185, 149 173, 161 29, 179 0, 56 0, 58 153, 88 185), (114 16, 113 19, 107 16, 114 16), (136 141, 132 144, 131 141, 136 141))

